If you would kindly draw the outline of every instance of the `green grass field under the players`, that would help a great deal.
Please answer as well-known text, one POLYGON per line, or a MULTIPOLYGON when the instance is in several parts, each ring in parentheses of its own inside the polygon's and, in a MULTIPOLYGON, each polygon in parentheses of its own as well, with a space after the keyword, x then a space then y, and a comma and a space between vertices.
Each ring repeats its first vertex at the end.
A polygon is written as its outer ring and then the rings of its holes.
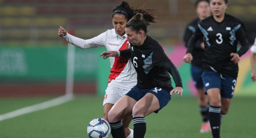
MULTIPOLYGON (((54 97, 0 99, 0 114, 38 104, 54 97)), ((102 97, 77 96, 73 101, 0 121, 1 138, 88 138, 90 120, 103 116, 102 97)), ((222 138, 256 137, 256 97, 234 97, 223 118, 222 138)), ((145 138, 211 138, 200 134, 197 99, 173 96, 158 114, 146 117, 145 138)), ((131 125, 131 128, 133 126, 131 125)), ((111 137, 112 138, 112 137, 111 137)))

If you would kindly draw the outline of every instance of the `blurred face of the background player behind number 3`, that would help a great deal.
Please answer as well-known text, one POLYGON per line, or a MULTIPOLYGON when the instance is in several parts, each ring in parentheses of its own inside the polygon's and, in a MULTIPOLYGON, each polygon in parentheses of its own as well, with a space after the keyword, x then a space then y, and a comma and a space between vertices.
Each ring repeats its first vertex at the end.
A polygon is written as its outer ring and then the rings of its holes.
POLYGON ((206 1, 200 1, 196 7, 196 13, 202 18, 210 16, 211 10, 210 5, 206 1))

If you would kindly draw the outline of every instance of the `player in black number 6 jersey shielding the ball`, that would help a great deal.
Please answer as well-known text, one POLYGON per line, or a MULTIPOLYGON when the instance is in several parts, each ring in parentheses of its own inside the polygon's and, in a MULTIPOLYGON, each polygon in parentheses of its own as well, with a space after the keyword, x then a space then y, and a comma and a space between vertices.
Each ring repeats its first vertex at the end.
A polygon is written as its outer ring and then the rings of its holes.
POLYGON ((131 48, 121 51, 106 51, 109 56, 130 56, 137 72, 137 85, 122 97, 108 113, 113 138, 124 138, 121 118, 133 115, 134 138, 143 138, 146 133, 145 116, 158 112, 171 100, 172 94, 182 96, 182 81, 177 68, 166 56, 162 46, 147 35, 147 26, 155 22, 153 10, 136 10, 137 14, 127 23, 125 32, 131 48), (176 88, 173 89, 170 74, 176 88), (171 95, 170 95, 171 94, 171 95))

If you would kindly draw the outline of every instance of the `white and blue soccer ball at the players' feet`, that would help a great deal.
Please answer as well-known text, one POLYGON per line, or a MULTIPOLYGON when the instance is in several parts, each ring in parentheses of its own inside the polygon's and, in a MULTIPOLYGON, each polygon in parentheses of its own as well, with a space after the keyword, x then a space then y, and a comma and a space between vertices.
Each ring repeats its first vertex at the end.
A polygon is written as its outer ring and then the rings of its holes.
POLYGON ((110 133, 110 125, 103 118, 95 118, 87 126, 87 134, 90 138, 108 138, 110 133))

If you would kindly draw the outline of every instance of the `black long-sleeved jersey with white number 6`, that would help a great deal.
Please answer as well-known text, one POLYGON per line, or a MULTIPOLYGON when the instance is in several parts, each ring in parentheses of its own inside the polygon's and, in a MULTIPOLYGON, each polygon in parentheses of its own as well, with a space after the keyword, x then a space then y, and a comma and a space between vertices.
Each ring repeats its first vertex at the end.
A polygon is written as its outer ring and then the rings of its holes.
POLYGON ((180 74, 171 60, 166 56, 162 46, 147 35, 140 46, 120 51, 120 56, 130 56, 137 72, 137 87, 143 90, 154 87, 171 91, 173 89, 170 74, 176 87, 182 87, 180 74), (170 74, 169 74, 169 73, 170 74))

